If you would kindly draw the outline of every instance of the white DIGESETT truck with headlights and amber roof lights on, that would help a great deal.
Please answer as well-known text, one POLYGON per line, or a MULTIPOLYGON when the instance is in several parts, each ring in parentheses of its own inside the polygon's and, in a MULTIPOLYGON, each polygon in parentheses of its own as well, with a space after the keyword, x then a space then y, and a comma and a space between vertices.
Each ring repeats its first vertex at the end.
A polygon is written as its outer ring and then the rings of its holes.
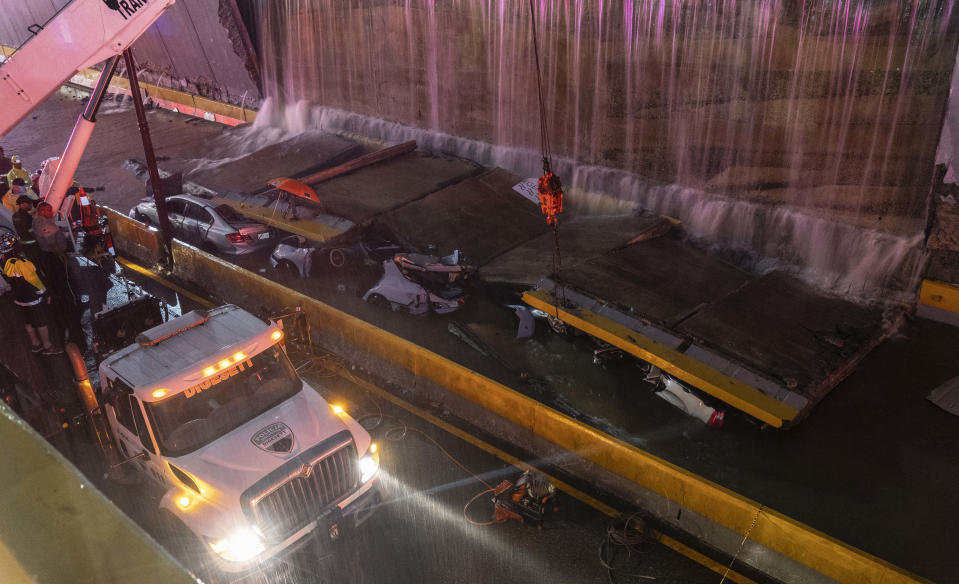
POLYGON ((378 501, 369 433, 297 376, 279 324, 233 305, 138 335, 99 367, 119 453, 217 569, 335 538, 378 501))

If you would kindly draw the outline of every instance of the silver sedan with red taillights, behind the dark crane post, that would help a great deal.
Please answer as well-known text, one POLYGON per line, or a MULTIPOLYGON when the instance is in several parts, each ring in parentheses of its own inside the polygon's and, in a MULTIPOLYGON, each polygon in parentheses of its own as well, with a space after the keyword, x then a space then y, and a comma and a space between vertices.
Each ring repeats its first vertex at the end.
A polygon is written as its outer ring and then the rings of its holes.
MULTIPOLYGON (((244 255, 273 245, 272 230, 237 213, 226 204, 214 204, 193 195, 167 197, 173 236, 213 254, 244 255)), ((130 217, 159 226, 156 203, 144 198, 130 209, 130 217)))

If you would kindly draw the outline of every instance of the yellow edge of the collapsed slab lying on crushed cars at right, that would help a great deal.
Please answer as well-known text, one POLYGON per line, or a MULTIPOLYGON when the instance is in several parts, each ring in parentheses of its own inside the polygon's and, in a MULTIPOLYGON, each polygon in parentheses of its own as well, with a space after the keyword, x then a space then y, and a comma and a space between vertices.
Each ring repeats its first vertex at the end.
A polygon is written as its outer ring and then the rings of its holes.
POLYGON ((795 408, 738 379, 724 375, 688 355, 589 310, 580 309, 572 313, 562 308, 557 309, 556 300, 546 290, 526 292, 523 294, 523 301, 548 314, 557 314, 558 310, 560 320, 659 367, 677 379, 771 426, 780 428, 783 422, 794 419, 799 413, 795 408))

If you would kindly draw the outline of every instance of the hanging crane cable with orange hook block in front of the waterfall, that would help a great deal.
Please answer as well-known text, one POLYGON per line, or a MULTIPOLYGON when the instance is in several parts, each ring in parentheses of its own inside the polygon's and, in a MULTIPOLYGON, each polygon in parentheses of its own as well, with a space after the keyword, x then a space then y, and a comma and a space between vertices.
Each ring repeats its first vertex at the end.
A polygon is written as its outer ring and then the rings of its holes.
POLYGON ((560 304, 566 304, 566 287, 561 275, 562 255, 559 247, 559 219, 563 212, 563 185, 559 177, 553 174, 552 153, 549 148, 549 125, 546 118, 546 102, 543 99, 543 73, 539 65, 539 39, 536 35, 536 9, 533 0, 529 0, 529 14, 533 27, 533 56, 536 64, 536 91, 539 97, 540 150, 543 154, 543 176, 538 181, 540 210, 546 215, 546 223, 553 231, 553 275, 556 283, 553 295, 556 297, 556 314, 559 319, 560 304), (558 292, 558 294, 557 294, 558 292))

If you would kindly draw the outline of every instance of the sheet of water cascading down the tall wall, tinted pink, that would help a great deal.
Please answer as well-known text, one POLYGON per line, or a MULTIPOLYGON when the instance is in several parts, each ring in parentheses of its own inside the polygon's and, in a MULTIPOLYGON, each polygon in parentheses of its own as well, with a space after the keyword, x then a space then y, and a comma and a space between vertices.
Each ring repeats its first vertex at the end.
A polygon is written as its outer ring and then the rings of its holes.
MULTIPOLYGON (((267 95, 539 173, 526 0, 254 5, 267 95)), ((955 0, 534 5, 552 152, 580 205, 602 193, 676 215, 840 291, 915 276, 955 0)))

